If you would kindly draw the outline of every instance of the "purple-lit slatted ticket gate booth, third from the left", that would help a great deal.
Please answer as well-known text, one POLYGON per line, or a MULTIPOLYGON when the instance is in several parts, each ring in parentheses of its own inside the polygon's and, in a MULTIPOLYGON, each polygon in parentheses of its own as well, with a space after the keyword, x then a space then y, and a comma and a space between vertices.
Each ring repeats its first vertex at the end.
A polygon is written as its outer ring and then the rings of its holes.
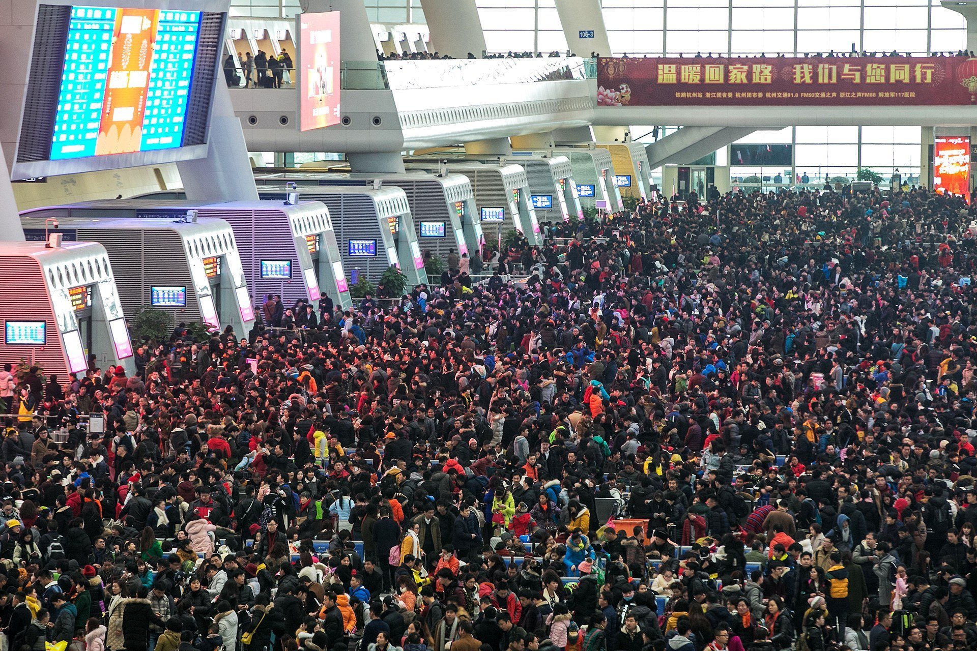
POLYGON ((284 192, 277 192, 274 201, 203 205, 187 201, 185 196, 182 191, 163 191, 138 200, 185 212, 196 210, 199 217, 231 224, 255 305, 276 294, 287 305, 305 299, 318 307, 321 292, 334 305, 353 305, 332 219, 323 204, 311 201, 290 205, 285 203, 284 192))

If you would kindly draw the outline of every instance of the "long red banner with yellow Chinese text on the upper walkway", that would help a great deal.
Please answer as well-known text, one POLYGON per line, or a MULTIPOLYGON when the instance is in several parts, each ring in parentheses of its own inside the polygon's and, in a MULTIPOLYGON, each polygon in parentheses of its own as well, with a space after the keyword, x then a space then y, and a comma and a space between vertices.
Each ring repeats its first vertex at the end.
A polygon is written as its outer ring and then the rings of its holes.
POLYGON ((601 58, 599 106, 977 103, 977 58, 601 58))

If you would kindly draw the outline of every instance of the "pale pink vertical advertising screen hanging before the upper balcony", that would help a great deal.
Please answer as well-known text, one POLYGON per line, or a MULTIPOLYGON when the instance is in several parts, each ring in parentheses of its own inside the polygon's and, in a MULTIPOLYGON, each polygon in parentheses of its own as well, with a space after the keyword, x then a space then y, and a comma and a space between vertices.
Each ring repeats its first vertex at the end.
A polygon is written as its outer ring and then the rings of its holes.
POLYGON ((300 14, 299 130, 339 124, 339 12, 300 14))

